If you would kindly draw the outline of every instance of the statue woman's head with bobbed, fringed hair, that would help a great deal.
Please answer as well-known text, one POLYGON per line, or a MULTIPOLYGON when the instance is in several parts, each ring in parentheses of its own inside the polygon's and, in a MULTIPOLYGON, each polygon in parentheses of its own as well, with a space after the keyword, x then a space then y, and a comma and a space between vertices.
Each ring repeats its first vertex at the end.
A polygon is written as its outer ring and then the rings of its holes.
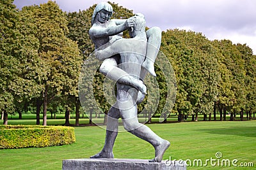
POLYGON ((98 20, 100 23, 105 23, 109 20, 113 13, 113 8, 109 3, 99 3, 95 7, 92 15, 92 25, 98 20))

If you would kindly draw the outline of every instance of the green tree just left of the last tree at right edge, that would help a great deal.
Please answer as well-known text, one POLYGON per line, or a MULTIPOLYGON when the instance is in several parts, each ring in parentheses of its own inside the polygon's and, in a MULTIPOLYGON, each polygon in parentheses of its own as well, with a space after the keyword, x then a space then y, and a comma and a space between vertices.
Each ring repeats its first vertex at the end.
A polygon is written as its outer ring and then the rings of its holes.
POLYGON ((220 113, 229 111, 233 115, 235 111, 239 111, 243 120, 242 113, 246 103, 246 88, 244 88, 246 71, 241 52, 230 40, 215 40, 212 43, 221 53, 218 58, 221 64, 220 95, 218 96, 220 113))

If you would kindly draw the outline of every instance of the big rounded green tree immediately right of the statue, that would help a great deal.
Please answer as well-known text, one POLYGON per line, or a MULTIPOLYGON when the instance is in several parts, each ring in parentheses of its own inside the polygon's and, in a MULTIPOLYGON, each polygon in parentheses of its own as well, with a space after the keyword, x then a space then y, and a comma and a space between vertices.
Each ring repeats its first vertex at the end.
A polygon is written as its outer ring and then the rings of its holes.
POLYGON ((177 76, 177 100, 174 112, 183 115, 208 115, 217 96, 217 50, 201 33, 180 31, 163 32, 161 49, 172 62, 177 76))

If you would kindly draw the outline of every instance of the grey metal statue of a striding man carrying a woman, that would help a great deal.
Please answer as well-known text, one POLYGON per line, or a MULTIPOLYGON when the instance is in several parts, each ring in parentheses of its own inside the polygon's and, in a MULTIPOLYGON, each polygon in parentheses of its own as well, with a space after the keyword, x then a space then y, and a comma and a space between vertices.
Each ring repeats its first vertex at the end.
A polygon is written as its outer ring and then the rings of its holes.
POLYGON ((100 72, 116 81, 116 106, 108 112, 105 144, 92 159, 113 159, 113 146, 118 134, 118 118, 125 130, 144 139, 155 148, 155 157, 149 162, 161 162, 170 142, 160 138, 146 125, 138 122, 137 104, 147 94, 143 80, 148 73, 156 76, 154 61, 161 44, 161 30, 152 27, 145 31, 145 18, 136 14, 126 20, 111 19, 113 8, 109 3, 99 3, 92 15, 89 35, 95 45, 95 57, 102 60, 100 72), (122 38, 128 30, 131 38, 122 38))

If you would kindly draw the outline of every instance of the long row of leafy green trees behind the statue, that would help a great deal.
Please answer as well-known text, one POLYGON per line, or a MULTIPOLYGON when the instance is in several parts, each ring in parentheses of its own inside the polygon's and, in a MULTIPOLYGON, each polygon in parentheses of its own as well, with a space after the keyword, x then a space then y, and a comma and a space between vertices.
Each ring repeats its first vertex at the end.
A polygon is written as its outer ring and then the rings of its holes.
MULTIPOLYGON (((76 111, 79 125, 82 110, 77 86, 83 61, 94 50, 88 30, 95 5, 67 13, 52 1, 22 10, 17 10, 13 0, 0 4, 0 110, 4 124, 8 114, 19 113, 22 118, 22 112, 33 110, 36 124, 40 124, 41 112, 47 125, 47 111, 64 108, 67 115, 76 111)), ((112 18, 133 15, 131 10, 111 4, 112 18)), ((234 45, 227 39, 209 41, 202 33, 170 29, 163 31, 160 50, 172 64, 177 83, 176 101, 170 104, 173 109, 164 110, 165 115, 193 115, 196 120, 198 114, 204 114, 211 120, 218 110, 221 120, 227 111, 233 120, 236 114, 243 118, 243 113, 250 117, 255 113, 256 56, 249 46, 234 45)), ((156 66, 156 73, 161 96, 154 114, 161 114, 170 91, 163 70, 156 66)), ((110 106, 103 81, 104 76, 96 73, 93 92, 107 113, 110 106)), ((145 104, 147 97, 139 110, 145 104)))

